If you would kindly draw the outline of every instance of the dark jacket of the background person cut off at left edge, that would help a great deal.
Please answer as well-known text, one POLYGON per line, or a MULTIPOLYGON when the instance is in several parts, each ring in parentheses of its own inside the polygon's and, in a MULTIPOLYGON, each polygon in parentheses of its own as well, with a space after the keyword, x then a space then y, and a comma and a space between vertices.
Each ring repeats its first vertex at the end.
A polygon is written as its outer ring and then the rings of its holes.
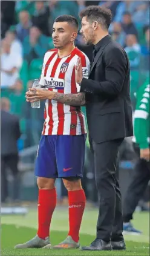
POLYGON ((17 140, 20 136, 18 117, 1 111, 1 156, 18 154, 17 140))

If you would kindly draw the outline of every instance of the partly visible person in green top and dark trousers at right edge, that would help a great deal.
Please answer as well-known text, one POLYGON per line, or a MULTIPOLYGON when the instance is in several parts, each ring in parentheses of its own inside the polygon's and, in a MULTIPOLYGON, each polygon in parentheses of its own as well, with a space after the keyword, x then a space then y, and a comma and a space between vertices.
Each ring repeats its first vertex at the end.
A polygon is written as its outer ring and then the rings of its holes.
POLYGON ((138 159, 123 202, 123 232, 125 234, 142 234, 141 231, 132 226, 131 220, 135 208, 150 180, 149 92, 150 85, 148 77, 137 91, 133 142, 138 159))

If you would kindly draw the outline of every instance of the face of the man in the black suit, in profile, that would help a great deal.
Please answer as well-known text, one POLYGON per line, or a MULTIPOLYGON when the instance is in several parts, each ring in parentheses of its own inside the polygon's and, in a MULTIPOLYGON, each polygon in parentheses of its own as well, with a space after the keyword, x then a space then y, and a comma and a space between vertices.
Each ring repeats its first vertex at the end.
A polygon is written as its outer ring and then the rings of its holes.
POLYGON ((86 17, 82 18, 82 27, 80 33, 85 39, 86 44, 93 44, 94 42, 94 28, 93 24, 87 21, 86 17))

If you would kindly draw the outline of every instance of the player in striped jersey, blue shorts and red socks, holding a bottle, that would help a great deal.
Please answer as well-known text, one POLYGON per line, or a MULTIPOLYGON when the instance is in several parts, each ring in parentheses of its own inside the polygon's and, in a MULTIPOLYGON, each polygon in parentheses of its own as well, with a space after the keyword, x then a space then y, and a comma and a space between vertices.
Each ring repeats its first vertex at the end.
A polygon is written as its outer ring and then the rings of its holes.
POLYGON ((76 84, 76 64, 80 59, 83 76, 88 78, 90 61, 74 46, 77 37, 77 19, 70 15, 56 18, 53 25, 54 49, 47 51, 40 84, 45 89, 30 88, 27 101, 46 99, 45 122, 42 131, 35 175, 39 188, 38 230, 30 241, 15 248, 50 248, 51 218, 56 207, 57 177, 62 178, 68 190, 69 232, 67 238, 53 248, 79 248, 79 229, 85 209, 85 193, 81 178, 85 157, 86 126, 80 105, 84 93, 76 84), (48 89, 48 90, 47 90, 48 89))

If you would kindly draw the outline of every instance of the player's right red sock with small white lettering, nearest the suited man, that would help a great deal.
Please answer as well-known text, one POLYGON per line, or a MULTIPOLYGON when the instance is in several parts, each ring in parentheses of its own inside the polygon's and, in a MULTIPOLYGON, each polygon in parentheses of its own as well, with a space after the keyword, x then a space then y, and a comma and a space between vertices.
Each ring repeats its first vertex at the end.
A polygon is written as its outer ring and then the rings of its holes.
POLYGON ((69 203, 69 225, 70 235, 74 241, 79 241, 79 230, 82 222, 82 215, 85 209, 85 192, 83 189, 76 191, 68 191, 69 203))

